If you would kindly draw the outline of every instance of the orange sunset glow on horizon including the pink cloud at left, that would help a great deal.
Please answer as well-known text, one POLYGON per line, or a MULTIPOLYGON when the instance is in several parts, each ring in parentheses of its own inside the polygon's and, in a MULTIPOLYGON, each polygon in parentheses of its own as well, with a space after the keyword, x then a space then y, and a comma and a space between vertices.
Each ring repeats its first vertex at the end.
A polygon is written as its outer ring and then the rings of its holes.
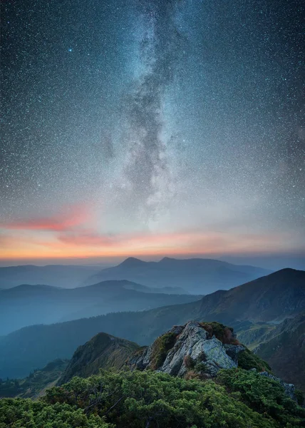
POLYGON ((0 224, 0 260, 262 254, 296 245, 296 237, 284 233, 102 233, 91 213, 85 205, 71 205, 58 215, 0 224))

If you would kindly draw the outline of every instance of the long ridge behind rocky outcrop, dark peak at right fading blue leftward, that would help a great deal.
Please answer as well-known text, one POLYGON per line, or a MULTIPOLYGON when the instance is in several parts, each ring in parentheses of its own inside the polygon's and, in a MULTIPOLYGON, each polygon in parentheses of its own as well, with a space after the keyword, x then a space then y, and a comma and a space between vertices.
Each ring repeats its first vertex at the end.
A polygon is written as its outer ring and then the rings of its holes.
MULTIPOLYGON (((25 327, 0 339, 0 377, 25 376, 56 358, 71 358, 76 347, 101 331, 150 345, 172 325, 184 325, 189 320, 223 322, 234 327, 238 335, 239 331, 250 330, 254 323, 266 322, 274 327, 304 310, 305 272, 284 269, 232 290, 219 290, 197 302, 25 327)), ((289 354, 289 350, 286 352, 289 354)), ((305 357, 302 347, 295 352, 305 357)), ((299 372, 297 367, 294 370, 299 372)), ((305 385, 305 377, 299 377, 300 384, 305 385)))

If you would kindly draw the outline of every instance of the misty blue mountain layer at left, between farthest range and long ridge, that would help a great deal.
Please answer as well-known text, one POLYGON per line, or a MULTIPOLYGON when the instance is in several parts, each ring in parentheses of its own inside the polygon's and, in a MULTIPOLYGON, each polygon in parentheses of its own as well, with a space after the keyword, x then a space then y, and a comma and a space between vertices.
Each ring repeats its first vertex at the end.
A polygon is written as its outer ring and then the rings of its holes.
POLYGON ((191 302, 195 295, 168 295, 130 281, 105 281, 73 289, 50 285, 19 285, 0 290, 0 335, 26 325, 93 317, 108 312, 148 310, 191 302))

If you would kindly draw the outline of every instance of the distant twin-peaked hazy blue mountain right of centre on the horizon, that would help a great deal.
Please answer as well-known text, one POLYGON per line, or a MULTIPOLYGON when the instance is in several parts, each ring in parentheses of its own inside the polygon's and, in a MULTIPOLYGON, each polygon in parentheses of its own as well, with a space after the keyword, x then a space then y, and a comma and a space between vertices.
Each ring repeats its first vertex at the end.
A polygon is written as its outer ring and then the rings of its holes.
POLYGON ((115 267, 100 270, 88 283, 101 280, 130 280, 148 287, 182 287, 188 292, 207 294, 219 288, 228 289, 270 271, 260 267, 233 265, 219 260, 163 258, 144 262, 128 258, 115 267))

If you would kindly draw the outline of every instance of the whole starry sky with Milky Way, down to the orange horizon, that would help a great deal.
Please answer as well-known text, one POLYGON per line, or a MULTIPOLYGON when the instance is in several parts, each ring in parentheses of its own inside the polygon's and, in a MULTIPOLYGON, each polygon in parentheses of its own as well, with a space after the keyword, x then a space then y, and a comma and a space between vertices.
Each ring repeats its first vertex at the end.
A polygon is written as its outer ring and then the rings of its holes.
POLYGON ((302 4, 2 1, 1 263, 305 267, 302 4))

